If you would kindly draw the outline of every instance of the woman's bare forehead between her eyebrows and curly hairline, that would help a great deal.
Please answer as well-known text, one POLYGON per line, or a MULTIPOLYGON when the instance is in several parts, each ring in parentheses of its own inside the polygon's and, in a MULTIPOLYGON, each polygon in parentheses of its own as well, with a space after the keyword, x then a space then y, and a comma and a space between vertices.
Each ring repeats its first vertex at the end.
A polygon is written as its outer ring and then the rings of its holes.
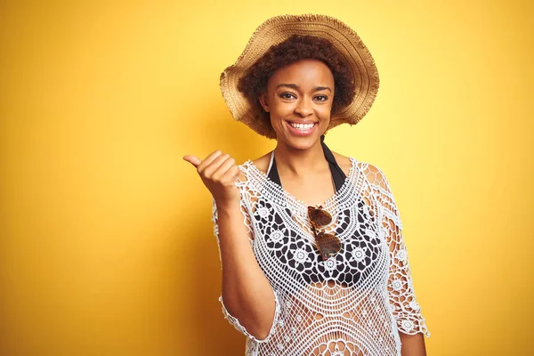
POLYGON ((301 87, 333 86, 334 76, 324 62, 306 59, 276 70, 269 78, 267 87, 276 87, 279 84, 296 84, 301 87))

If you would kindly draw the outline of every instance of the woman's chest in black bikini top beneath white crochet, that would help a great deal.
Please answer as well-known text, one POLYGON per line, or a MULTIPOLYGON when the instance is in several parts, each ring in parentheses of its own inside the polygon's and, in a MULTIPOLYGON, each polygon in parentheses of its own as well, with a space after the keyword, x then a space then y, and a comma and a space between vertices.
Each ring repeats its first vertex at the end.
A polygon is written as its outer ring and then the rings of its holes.
POLYGON ((305 216, 290 206, 258 198, 251 215, 254 249, 260 267, 271 283, 305 287, 337 281, 349 287, 364 286, 368 279, 385 279, 389 249, 384 231, 369 213, 363 199, 335 209, 334 222, 325 228, 341 240, 341 251, 323 261, 305 216))

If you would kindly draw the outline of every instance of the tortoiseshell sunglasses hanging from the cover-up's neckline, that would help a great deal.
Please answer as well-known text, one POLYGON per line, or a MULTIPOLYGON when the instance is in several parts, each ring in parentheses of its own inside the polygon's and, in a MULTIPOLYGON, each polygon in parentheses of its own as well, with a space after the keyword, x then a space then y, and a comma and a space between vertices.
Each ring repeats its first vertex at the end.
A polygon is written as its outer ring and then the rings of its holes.
POLYGON ((315 246, 319 250, 323 261, 336 255, 341 251, 341 240, 336 235, 319 231, 320 228, 332 223, 332 215, 324 210, 322 206, 308 206, 308 217, 312 222, 312 231, 315 237, 315 246))

